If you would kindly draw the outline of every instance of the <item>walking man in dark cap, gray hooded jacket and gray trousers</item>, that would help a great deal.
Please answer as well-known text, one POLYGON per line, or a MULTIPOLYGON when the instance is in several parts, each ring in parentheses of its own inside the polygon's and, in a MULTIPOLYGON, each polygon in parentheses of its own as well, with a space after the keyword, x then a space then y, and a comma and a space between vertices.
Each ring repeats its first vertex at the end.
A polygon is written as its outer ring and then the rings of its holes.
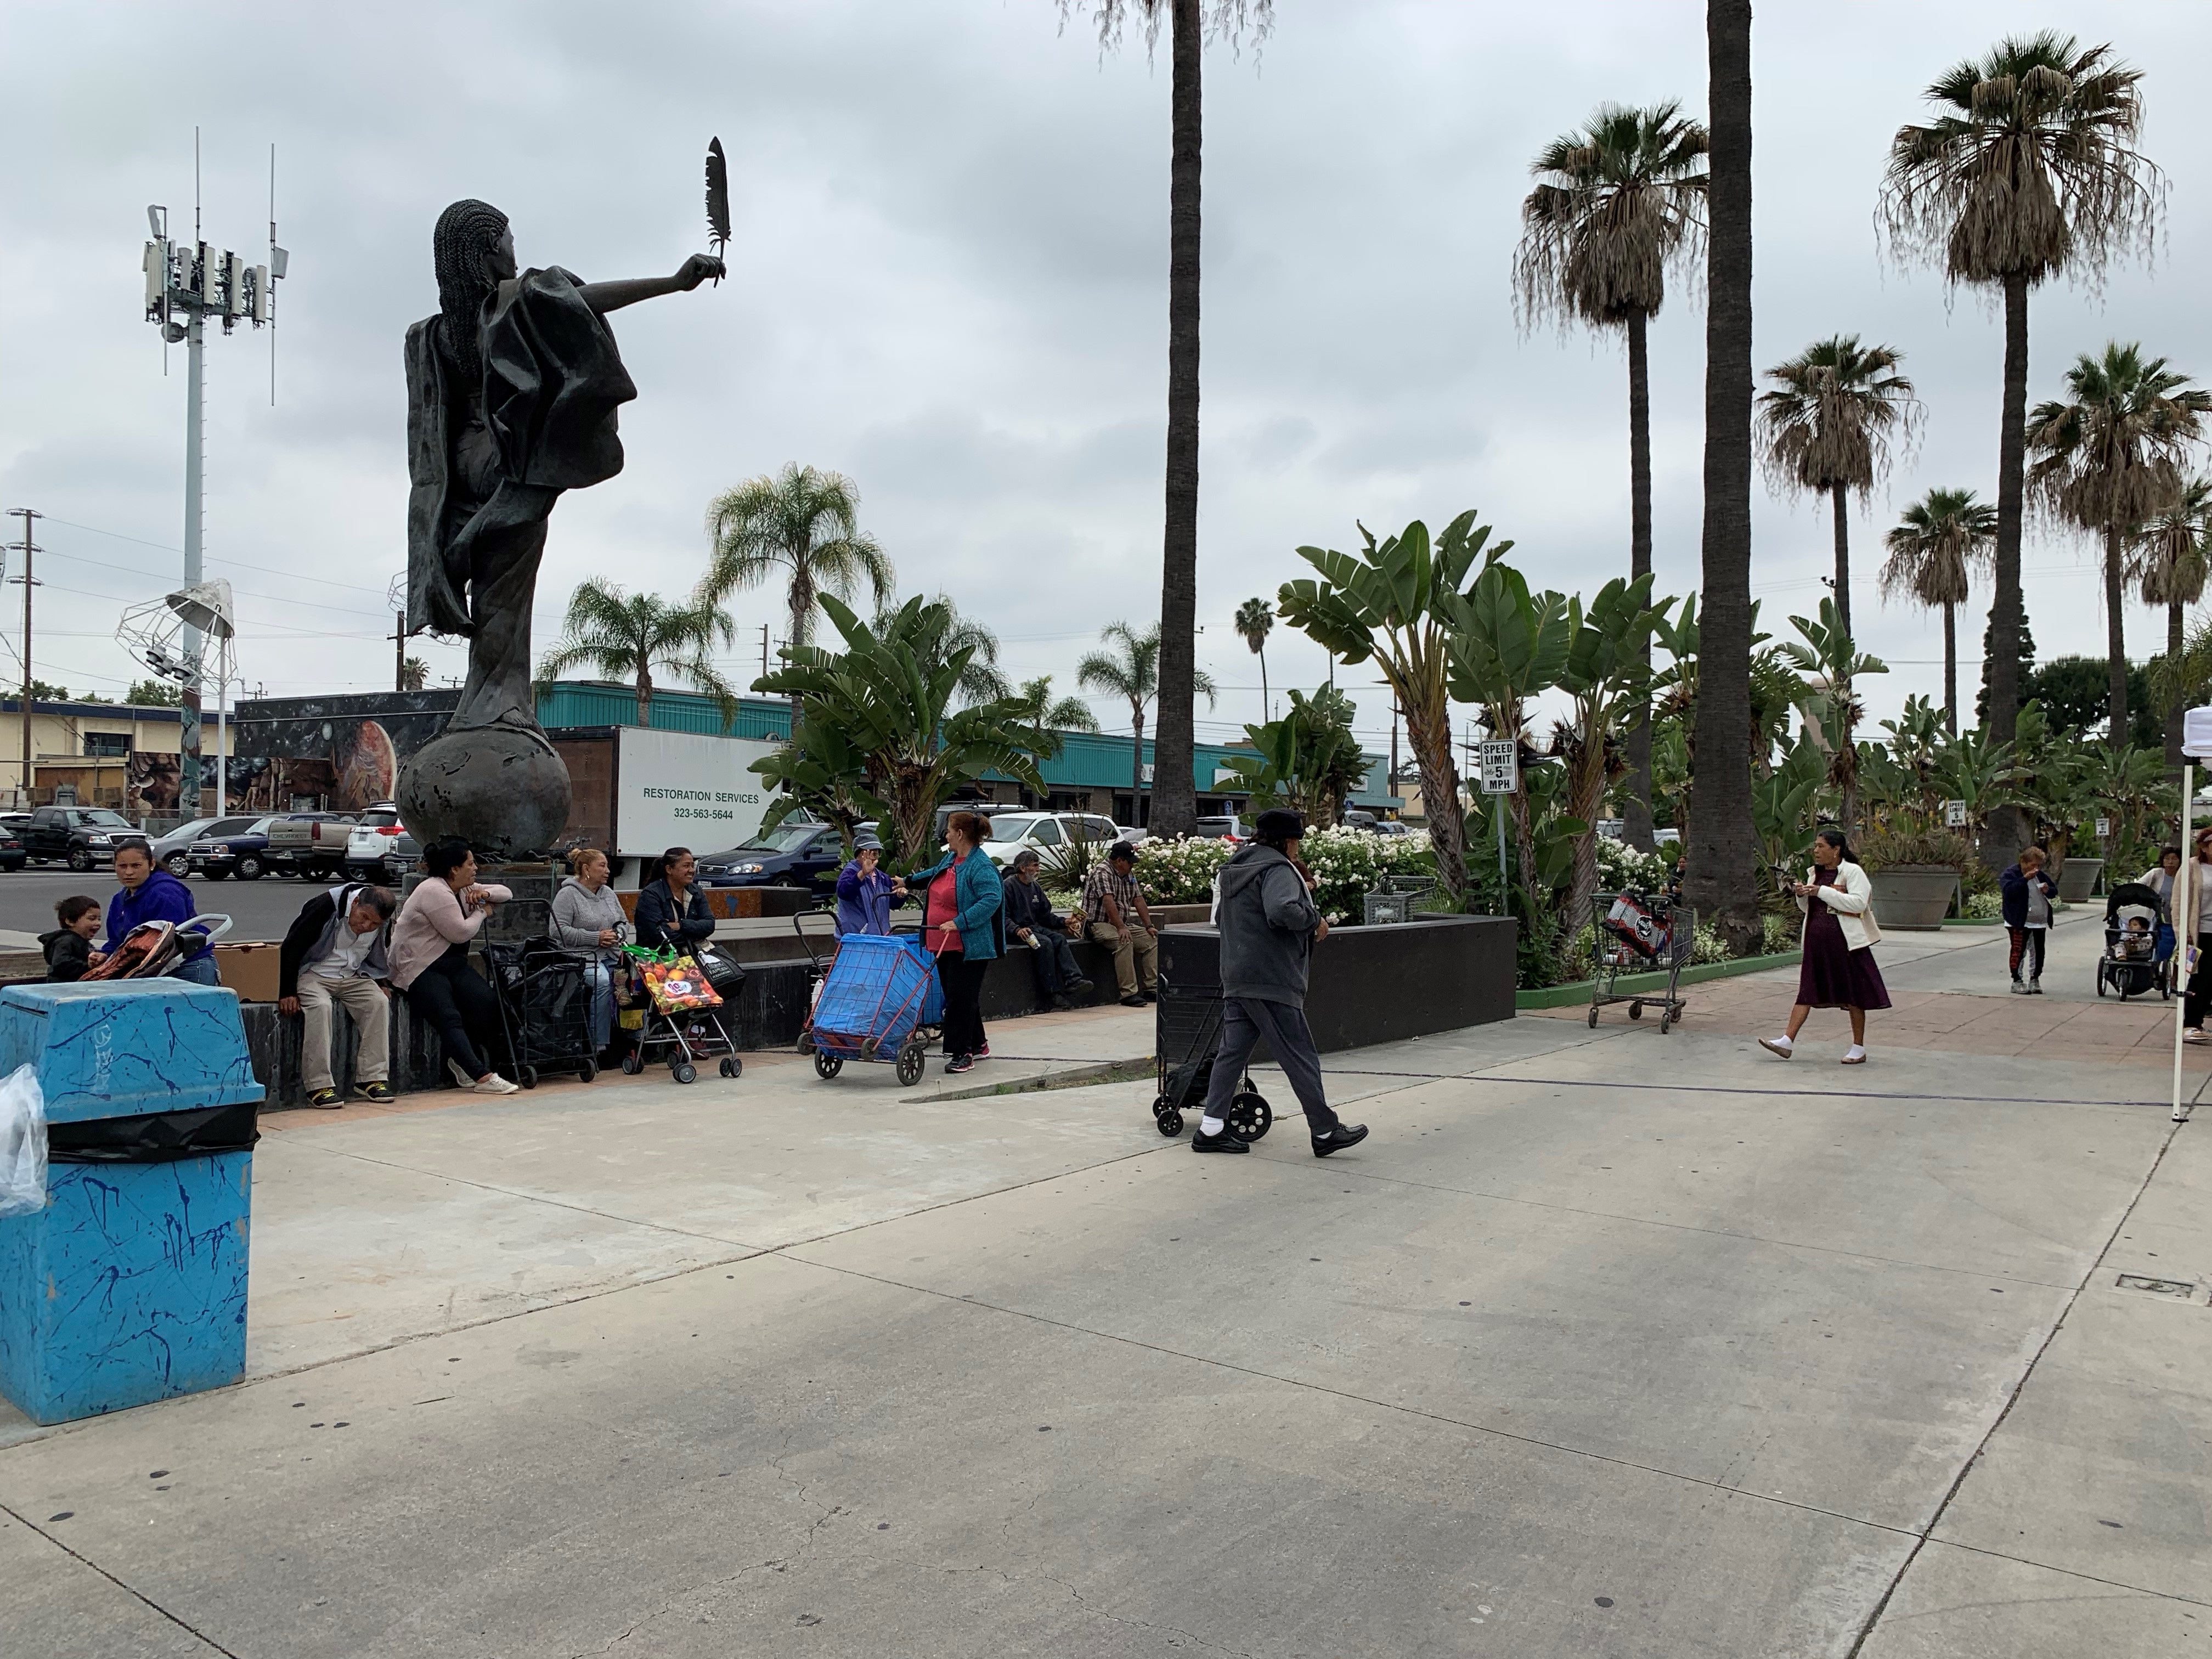
POLYGON ((1221 1046, 1206 1088, 1206 1115, 1190 1137, 1192 1152, 1250 1152, 1225 1121, 1243 1084, 1252 1048, 1267 1040, 1274 1064, 1305 1108, 1314 1157, 1367 1139, 1365 1124, 1345 1124, 1321 1091, 1321 1055, 1305 1024, 1305 964, 1329 925, 1314 907, 1298 865, 1305 818, 1281 807, 1259 814, 1254 841, 1237 849, 1214 878, 1214 927, 1221 929, 1221 1046))

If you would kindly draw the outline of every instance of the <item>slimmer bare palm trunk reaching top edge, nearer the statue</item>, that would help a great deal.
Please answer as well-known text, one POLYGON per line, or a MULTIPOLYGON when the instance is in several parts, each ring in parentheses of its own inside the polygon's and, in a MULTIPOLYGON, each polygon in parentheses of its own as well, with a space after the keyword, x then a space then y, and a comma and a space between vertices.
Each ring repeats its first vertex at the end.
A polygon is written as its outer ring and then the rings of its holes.
POLYGON ((1175 155, 1168 164, 1168 529, 1159 571, 1152 830, 1197 827, 1192 675, 1199 633, 1199 66, 1201 0, 1175 0, 1175 155))

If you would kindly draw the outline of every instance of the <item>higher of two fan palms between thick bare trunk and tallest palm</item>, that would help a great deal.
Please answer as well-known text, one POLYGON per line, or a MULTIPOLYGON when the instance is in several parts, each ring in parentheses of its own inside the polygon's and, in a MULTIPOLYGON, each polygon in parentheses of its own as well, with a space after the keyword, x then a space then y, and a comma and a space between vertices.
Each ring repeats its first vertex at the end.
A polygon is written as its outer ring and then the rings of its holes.
MULTIPOLYGON (((1767 369, 1759 396, 1759 451, 1783 489, 1827 495, 1836 515, 1836 619, 1851 633, 1851 513, 1889 471, 1891 440, 1911 440, 1920 422, 1913 383, 1898 374, 1905 354, 1836 334, 1767 369)), ((1845 734, 1849 741, 1849 734, 1845 734)))

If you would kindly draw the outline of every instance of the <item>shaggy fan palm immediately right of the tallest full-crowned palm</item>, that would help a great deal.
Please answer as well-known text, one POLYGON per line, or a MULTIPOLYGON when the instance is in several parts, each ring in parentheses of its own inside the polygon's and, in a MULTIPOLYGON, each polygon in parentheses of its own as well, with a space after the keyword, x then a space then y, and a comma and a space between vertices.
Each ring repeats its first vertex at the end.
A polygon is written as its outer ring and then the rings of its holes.
POLYGON ((2181 493, 2181 453, 2212 414, 2212 392, 2143 358, 2141 345, 2112 341, 2066 369, 2068 403, 2039 403, 2028 416, 2035 451, 2028 484, 2066 524, 2104 538, 2104 628, 2112 686, 2112 732, 2128 741, 2128 630, 2121 553, 2132 526, 2181 493))

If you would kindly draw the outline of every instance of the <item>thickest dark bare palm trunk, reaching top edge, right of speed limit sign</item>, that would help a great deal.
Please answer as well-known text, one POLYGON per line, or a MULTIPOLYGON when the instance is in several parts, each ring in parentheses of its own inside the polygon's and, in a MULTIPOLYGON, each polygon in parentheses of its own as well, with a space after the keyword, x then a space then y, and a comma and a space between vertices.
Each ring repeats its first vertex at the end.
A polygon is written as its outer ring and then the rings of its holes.
MULTIPOLYGON (((1690 785, 1690 902, 1736 956, 1761 945, 1752 823, 1752 4, 1705 0, 1712 82, 1705 524, 1690 785)), ((1573 920, 1573 918, 1571 918, 1573 920)))

